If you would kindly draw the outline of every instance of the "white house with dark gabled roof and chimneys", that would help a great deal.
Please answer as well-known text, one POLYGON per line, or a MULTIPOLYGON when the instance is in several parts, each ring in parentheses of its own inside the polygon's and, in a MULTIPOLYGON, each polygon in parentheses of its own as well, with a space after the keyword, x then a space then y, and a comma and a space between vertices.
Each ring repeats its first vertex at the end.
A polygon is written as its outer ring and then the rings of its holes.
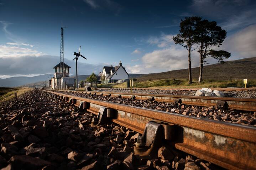
POLYGON ((128 79, 129 74, 120 61, 119 66, 104 66, 101 76, 101 79, 105 79, 108 83, 115 83, 117 80, 128 79))

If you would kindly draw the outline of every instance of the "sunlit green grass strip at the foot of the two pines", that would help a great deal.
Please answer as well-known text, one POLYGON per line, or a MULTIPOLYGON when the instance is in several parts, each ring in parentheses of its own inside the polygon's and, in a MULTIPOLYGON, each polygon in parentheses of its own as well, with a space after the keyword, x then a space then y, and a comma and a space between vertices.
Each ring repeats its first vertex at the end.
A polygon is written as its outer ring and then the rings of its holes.
MULTIPOLYGON (((247 80, 246 87, 256 87, 256 80, 247 80)), ((98 85, 97 87, 116 87, 127 88, 124 83, 112 83, 106 85, 98 85)), ((226 88, 226 87, 244 87, 243 80, 203 80, 198 83, 193 80, 192 84, 188 84, 186 79, 162 79, 162 80, 147 80, 134 82, 134 88, 160 87, 160 88, 226 88)))

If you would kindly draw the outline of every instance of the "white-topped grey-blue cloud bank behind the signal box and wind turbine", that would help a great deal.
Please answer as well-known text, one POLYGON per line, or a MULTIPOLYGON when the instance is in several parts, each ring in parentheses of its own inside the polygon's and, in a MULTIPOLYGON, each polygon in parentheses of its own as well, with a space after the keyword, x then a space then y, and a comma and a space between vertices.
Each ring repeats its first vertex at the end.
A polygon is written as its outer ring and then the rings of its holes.
MULTIPOLYGON (((37 50, 13 45, 17 44, 0 45, 0 78, 54 73, 53 67, 59 63, 59 56, 50 56, 37 50)), ((72 67, 70 73, 74 74, 75 62, 66 58, 64 62, 72 67)), ((101 63, 78 62, 78 73, 98 73, 102 66, 101 63)))

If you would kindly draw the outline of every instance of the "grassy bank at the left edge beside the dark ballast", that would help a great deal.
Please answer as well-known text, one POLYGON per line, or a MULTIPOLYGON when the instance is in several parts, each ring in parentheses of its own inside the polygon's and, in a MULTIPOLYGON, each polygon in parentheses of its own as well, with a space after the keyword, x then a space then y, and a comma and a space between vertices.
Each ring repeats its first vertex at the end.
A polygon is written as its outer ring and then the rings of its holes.
POLYGON ((24 92, 32 90, 31 88, 22 88, 22 87, 15 87, 15 88, 8 88, 8 87, 0 87, 0 102, 10 100, 11 98, 15 97, 15 92, 17 96, 23 94, 24 92))

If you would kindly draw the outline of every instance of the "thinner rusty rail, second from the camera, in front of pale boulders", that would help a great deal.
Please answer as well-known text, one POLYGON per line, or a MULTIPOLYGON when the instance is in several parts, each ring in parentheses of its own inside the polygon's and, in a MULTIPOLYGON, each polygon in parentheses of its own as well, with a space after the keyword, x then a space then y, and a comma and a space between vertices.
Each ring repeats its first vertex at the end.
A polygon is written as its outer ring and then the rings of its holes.
POLYGON ((162 95, 162 94, 138 94, 138 93, 117 93, 117 92, 97 92, 97 91, 75 91, 75 90, 53 90, 53 91, 71 91, 74 93, 88 93, 113 97, 131 98, 135 96, 138 100, 152 99, 159 102, 181 102, 182 104, 192 106, 224 106, 230 109, 237 109, 242 111, 256 112, 256 98, 240 98, 240 97, 208 97, 208 96, 186 96, 186 95, 162 95))

